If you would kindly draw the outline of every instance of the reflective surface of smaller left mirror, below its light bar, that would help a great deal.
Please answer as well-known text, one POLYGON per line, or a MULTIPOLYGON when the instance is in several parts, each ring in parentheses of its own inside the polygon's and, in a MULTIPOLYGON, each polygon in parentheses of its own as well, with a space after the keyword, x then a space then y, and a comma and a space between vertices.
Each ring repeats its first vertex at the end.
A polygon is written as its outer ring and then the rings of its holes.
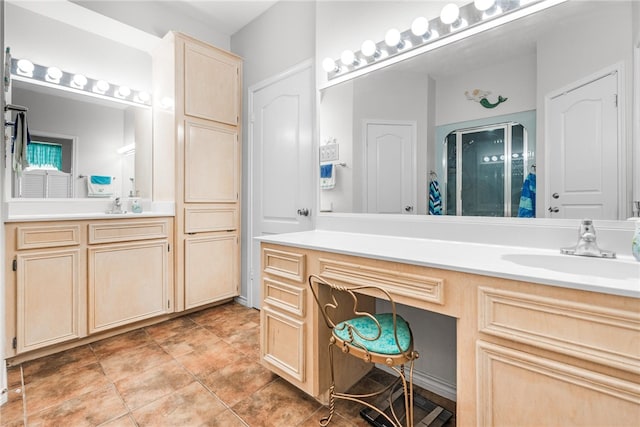
POLYGON ((151 146, 149 108, 18 80, 11 95, 13 104, 28 108, 32 142, 27 146, 30 166, 20 176, 11 174, 14 198, 150 196, 136 179, 136 163, 145 161, 143 156, 136 160, 136 153, 151 146), (131 144, 135 149, 122 150, 131 144), (104 191, 90 193, 92 176, 111 182, 104 191))

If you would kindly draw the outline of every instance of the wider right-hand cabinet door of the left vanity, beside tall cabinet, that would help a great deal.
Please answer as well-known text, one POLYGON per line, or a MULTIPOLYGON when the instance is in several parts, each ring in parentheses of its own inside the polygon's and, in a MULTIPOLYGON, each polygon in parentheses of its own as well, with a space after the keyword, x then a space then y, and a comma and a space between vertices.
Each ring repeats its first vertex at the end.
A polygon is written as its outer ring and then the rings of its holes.
POLYGON ((166 240, 89 248, 89 332, 169 313, 166 240))

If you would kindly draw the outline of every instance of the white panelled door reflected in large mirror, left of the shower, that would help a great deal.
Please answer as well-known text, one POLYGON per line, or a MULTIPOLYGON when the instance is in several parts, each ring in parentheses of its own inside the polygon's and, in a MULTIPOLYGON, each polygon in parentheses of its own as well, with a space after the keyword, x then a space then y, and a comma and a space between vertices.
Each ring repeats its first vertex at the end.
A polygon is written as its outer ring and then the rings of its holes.
POLYGON ((414 123, 365 122, 368 213, 416 213, 414 123))

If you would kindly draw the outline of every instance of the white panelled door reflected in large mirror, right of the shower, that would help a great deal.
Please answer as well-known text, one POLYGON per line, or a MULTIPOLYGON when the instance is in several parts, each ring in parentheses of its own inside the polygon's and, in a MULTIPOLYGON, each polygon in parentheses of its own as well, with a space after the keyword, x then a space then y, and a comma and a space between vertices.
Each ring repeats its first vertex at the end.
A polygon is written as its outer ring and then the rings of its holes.
POLYGON ((547 215, 618 219, 617 72, 549 100, 547 215))

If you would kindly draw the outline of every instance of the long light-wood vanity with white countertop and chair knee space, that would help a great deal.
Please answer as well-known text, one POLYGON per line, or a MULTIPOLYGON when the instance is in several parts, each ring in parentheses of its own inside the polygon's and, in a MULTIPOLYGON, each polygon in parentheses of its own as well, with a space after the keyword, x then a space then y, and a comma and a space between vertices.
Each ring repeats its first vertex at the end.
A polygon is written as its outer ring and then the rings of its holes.
MULTIPOLYGON (((310 274, 382 286, 397 303, 456 319, 458 425, 640 419, 638 263, 323 230, 260 240, 262 363, 321 401, 329 330, 309 292, 310 274)), ((342 389, 369 369, 336 367, 342 389)))

